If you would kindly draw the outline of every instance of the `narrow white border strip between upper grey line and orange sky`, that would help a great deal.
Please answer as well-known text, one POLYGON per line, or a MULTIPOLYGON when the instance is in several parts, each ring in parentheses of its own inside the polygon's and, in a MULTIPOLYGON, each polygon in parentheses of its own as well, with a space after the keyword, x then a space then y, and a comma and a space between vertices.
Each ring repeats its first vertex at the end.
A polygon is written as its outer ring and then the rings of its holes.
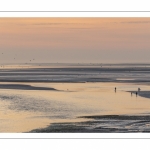
POLYGON ((150 17, 150 11, 0 11, 0 17, 150 17))

